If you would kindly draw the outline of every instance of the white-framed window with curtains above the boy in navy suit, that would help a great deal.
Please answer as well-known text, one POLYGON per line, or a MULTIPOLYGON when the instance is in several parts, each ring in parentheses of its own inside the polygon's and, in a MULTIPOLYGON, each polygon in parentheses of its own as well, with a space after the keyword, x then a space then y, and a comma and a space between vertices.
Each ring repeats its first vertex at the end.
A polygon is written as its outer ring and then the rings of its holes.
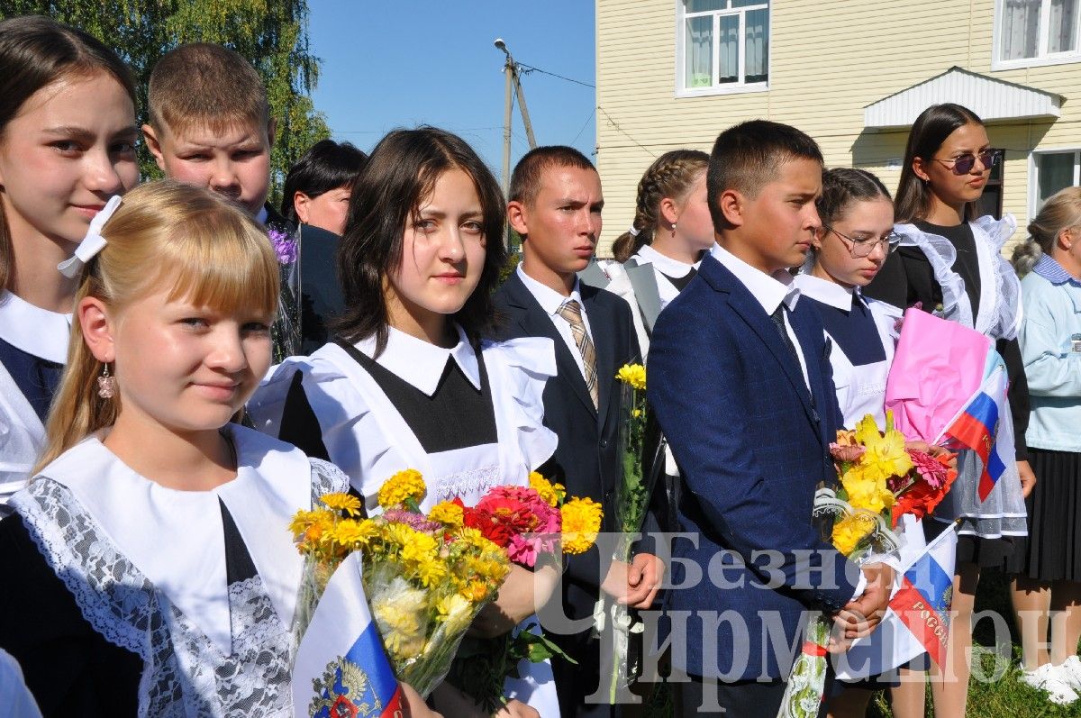
POLYGON ((764 89, 770 79, 769 0, 678 0, 682 87, 764 89))

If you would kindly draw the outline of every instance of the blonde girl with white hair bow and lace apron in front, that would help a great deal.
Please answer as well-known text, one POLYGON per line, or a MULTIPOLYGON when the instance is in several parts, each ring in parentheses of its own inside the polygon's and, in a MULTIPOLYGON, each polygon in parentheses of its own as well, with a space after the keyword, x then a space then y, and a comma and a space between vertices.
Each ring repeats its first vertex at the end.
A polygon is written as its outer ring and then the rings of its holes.
POLYGON ((44 715, 293 715, 288 527, 348 479, 230 423, 270 365, 273 249, 160 182, 110 199, 59 269, 68 369, 0 521, 0 648, 44 715))

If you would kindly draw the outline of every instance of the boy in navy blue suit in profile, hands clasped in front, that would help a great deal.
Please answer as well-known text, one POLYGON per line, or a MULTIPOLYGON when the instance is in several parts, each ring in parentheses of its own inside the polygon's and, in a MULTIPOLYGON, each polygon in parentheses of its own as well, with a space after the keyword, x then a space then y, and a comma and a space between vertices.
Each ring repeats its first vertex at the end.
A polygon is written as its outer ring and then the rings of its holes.
POLYGON ((892 571, 860 576, 812 519, 816 488, 837 482, 840 412, 822 323, 787 269, 820 224, 822 170, 795 128, 723 132, 707 174, 718 244, 654 329, 649 398, 682 470, 680 529, 697 537, 673 542, 665 601, 673 681, 690 676, 672 683, 677 715, 773 718, 803 613, 851 638, 889 599, 892 571))

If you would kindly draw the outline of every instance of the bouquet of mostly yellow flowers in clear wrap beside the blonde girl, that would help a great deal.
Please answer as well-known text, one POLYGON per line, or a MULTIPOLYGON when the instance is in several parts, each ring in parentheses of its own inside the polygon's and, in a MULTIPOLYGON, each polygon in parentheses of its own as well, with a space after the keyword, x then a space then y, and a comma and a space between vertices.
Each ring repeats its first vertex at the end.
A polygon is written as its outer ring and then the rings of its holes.
POLYGON ((421 474, 408 469, 379 489, 379 516, 361 518, 356 496, 326 494, 321 507, 297 511, 290 526, 306 558, 297 642, 334 570, 359 550, 364 594, 390 664, 423 696, 450 670, 466 628, 510 570, 505 548, 466 526, 461 505, 444 502, 423 514, 425 490, 421 474))

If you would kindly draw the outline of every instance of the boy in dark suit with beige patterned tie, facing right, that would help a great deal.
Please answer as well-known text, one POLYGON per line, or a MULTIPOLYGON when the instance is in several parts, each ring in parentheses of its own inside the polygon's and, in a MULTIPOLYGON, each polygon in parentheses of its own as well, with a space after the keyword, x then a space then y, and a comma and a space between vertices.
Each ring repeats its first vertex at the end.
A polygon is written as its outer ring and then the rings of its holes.
MULTIPOLYGON (((559 437, 556 461, 565 473, 560 479, 569 494, 599 502, 602 530, 615 531, 615 489, 623 477, 616 372, 640 361, 640 354, 630 306, 577 280, 600 237, 600 176, 572 147, 538 147, 515 168, 509 200, 507 218, 523 237, 523 260, 495 294, 508 319, 505 337, 555 342, 557 375, 545 385, 544 409, 545 425, 559 437)), ((610 563, 599 549, 590 549, 568 560, 562 608, 572 620, 587 619, 602 590, 631 607, 649 608, 663 571, 652 554, 610 563)), ((600 642, 588 630, 550 637, 578 662, 552 662, 563 717, 612 715, 614 706, 589 702, 597 693, 604 701, 608 696, 608 677, 600 680, 600 642)))

